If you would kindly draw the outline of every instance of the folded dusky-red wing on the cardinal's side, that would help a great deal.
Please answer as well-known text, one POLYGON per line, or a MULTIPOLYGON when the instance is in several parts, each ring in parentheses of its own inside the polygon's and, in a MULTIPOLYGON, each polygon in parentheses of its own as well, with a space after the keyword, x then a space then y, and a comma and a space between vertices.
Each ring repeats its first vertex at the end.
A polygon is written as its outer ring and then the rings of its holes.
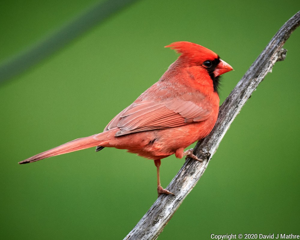
POLYGON ((212 111, 207 101, 169 99, 161 102, 140 101, 131 104, 119 113, 104 129, 119 127, 116 136, 163 128, 178 127, 203 121, 212 111))

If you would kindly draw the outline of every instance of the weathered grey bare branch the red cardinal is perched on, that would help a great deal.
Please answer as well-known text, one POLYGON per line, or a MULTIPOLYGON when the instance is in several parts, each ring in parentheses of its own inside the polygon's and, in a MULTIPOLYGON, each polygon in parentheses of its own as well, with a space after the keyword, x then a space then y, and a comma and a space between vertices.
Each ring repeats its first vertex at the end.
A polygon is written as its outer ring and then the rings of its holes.
POLYGON ((184 198, 204 173, 208 162, 216 152, 230 124, 250 98, 252 92, 264 79, 265 75, 272 70, 275 62, 284 60, 286 50, 282 49, 282 46, 299 25, 300 11, 292 16, 271 39, 270 43, 223 102, 214 129, 205 139, 196 144, 194 154, 201 158, 203 163, 187 159, 167 187, 176 196, 162 194, 124 239, 156 239, 158 237, 184 198))

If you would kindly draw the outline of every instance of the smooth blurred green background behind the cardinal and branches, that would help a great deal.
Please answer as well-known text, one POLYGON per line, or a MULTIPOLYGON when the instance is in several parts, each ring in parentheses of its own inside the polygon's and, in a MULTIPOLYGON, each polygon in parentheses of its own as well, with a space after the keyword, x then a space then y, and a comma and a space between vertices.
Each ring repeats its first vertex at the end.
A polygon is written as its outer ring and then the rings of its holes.
MULTIPOLYGON (((94 0, 1 1, 0 62, 51 35, 94 0)), ((176 60, 164 46, 217 52, 221 102, 299 1, 136 1, 0 85, 0 239, 122 239, 156 199, 156 169, 106 148, 17 162, 99 133, 176 60)), ((159 239, 300 234, 297 29, 286 60, 253 93, 159 239)), ((184 160, 162 161, 166 187, 184 160)))

